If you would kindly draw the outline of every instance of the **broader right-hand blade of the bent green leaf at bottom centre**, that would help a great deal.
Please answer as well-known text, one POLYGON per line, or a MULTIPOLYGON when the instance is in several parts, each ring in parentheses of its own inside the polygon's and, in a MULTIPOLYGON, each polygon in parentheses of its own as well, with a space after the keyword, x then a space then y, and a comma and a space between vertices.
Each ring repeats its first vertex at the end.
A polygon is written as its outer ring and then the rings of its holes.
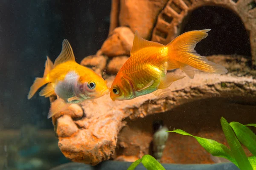
POLYGON ((142 157, 142 163, 147 170, 165 170, 164 167, 150 155, 142 157))

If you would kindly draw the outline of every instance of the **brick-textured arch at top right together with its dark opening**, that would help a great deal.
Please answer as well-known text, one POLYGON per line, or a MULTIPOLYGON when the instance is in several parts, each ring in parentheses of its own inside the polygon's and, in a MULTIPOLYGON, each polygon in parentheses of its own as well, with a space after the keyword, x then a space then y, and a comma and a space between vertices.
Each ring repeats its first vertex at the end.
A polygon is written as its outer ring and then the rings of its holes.
POLYGON ((196 45, 198 54, 219 55, 223 59, 230 55, 234 58, 241 56, 248 60, 250 69, 255 68, 253 35, 256 30, 253 28, 256 18, 252 17, 255 7, 254 0, 168 0, 158 15, 151 41, 166 45, 186 31, 211 29, 209 36, 196 45))

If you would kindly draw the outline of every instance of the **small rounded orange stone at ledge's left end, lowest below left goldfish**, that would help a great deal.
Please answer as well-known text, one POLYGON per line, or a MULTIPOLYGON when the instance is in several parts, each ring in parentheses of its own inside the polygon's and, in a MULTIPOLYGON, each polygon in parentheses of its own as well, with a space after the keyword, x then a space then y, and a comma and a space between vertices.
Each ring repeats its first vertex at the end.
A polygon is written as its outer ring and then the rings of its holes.
POLYGON ((68 115, 58 118, 57 125, 56 133, 59 137, 69 137, 78 131, 78 127, 68 115))

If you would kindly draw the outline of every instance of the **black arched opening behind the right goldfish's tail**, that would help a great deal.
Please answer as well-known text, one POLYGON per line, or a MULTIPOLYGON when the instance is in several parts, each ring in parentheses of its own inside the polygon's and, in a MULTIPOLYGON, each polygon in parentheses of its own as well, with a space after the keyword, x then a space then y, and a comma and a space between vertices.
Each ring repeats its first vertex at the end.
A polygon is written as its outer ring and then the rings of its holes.
POLYGON ((251 56, 247 31, 233 11, 218 6, 204 6, 192 11, 183 24, 180 34, 191 30, 211 29, 208 37, 195 47, 201 55, 235 54, 248 58, 251 56))

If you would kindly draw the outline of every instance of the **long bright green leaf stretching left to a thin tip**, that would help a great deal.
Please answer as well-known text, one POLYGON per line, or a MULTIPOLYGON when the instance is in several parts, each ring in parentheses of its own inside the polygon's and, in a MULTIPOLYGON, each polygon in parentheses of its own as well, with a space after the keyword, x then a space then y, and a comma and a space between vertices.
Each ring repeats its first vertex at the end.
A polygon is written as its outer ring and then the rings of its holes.
POLYGON ((185 131, 180 130, 180 129, 176 129, 173 131, 167 131, 167 132, 175 132, 175 133, 179 133, 181 135, 192 136, 198 141, 199 144, 201 144, 202 147, 204 147, 205 150, 207 150, 207 152, 211 153, 212 156, 226 158, 226 159, 230 160, 231 162, 233 162, 238 167, 236 160, 232 157, 231 150, 229 148, 227 148, 224 144, 218 143, 212 139, 206 139, 206 138, 201 138, 198 136, 193 136, 193 135, 186 133, 185 131))

